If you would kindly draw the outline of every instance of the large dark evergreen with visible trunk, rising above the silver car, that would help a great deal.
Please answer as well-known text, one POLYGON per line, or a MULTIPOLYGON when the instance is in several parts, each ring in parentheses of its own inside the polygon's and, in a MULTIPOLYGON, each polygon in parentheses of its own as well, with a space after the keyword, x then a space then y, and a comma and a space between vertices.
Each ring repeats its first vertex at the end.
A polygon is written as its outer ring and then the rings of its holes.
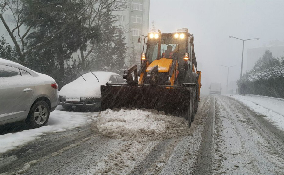
POLYGON ((29 47, 40 45, 36 47, 37 53, 43 56, 43 53, 48 52, 48 57, 44 56, 46 59, 56 58, 59 63, 59 74, 63 78, 64 61, 70 59, 72 53, 76 52, 83 42, 82 24, 86 20, 83 15, 83 1, 24 1, 25 24, 36 29, 27 36, 29 47))

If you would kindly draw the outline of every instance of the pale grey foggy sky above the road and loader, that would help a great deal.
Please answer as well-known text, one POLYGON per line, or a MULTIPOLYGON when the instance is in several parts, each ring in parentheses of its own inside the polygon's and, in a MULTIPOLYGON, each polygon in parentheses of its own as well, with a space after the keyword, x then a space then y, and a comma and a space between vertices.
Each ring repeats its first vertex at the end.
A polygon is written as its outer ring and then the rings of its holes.
MULTIPOLYGON (((243 42, 229 35, 259 40, 245 41, 243 73, 247 49, 284 41, 284 1, 174 1, 151 0, 150 24, 162 33, 187 27, 194 36, 197 62, 202 63, 203 92, 210 82, 221 82, 225 89, 227 68, 229 82, 240 77, 243 42)), ((284 55, 284 53, 283 53, 284 55)))

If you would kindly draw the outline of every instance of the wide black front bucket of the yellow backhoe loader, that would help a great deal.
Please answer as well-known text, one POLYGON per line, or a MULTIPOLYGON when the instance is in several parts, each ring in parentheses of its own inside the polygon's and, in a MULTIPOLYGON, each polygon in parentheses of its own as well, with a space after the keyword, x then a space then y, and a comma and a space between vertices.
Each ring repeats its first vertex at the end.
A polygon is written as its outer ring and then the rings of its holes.
POLYGON ((191 113, 189 111, 191 108, 193 109, 190 105, 194 104, 196 96, 194 87, 196 84, 193 83, 186 83, 182 86, 107 84, 101 86, 101 109, 146 108, 184 116, 191 113))

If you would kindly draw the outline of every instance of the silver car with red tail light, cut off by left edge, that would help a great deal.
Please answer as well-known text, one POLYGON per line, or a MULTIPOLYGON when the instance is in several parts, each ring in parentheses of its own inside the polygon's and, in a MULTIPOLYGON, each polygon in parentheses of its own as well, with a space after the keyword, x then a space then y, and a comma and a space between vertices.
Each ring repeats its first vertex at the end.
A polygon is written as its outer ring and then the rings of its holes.
POLYGON ((30 128, 43 126, 57 105, 53 78, 0 58, 0 125, 25 120, 30 128))

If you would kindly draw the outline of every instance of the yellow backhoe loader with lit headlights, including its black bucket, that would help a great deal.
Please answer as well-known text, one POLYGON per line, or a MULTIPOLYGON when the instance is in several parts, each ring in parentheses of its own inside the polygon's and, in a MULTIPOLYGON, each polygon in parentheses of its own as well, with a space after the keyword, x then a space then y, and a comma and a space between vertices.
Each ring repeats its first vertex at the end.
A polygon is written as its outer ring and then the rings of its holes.
POLYGON ((193 35, 187 28, 174 33, 161 33, 159 30, 158 33, 148 33, 148 36, 140 35, 138 43, 142 40, 140 69, 134 65, 124 71, 126 84, 107 83, 101 86, 102 110, 123 107, 156 109, 182 116, 190 126, 197 111, 201 88, 201 71, 197 71, 193 35))

